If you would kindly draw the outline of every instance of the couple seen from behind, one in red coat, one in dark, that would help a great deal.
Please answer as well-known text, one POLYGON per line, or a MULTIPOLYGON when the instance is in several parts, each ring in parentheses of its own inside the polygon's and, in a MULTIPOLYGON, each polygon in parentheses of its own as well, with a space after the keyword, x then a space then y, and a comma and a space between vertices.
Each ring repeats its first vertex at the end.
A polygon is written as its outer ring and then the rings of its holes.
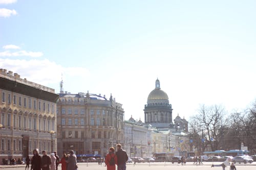
POLYGON ((106 170, 115 170, 117 164, 117 170, 126 169, 126 161, 128 160, 127 153, 122 150, 121 144, 117 144, 117 152, 115 154, 115 149, 111 147, 109 149, 109 154, 106 155, 105 164, 106 170))

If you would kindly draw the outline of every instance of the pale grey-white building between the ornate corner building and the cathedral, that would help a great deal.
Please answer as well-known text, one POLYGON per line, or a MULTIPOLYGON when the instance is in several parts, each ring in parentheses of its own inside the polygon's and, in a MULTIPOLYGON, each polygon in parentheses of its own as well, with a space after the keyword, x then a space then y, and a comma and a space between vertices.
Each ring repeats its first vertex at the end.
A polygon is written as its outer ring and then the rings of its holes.
POLYGON ((151 130, 142 126, 141 120, 133 117, 124 123, 124 146, 129 157, 146 157, 152 155, 151 130))

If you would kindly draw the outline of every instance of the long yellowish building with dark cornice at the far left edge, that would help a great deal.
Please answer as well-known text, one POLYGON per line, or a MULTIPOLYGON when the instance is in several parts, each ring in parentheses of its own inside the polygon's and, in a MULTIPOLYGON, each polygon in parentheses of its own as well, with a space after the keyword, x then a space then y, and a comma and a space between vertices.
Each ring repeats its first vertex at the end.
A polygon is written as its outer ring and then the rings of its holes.
POLYGON ((0 69, 0 163, 24 158, 32 151, 56 150, 56 102, 54 89, 42 86, 6 69, 0 69))

